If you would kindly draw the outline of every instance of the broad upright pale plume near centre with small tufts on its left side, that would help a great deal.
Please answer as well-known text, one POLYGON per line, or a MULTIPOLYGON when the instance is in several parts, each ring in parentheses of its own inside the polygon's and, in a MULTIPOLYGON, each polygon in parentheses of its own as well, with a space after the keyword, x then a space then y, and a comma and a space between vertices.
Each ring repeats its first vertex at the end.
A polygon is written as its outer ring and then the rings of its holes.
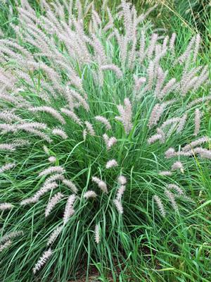
POLYGON ((124 107, 122 105, 117 105, 117 109, 120 113, 120 116, 115 116, 117 121, 121 121, 124 126, 124 131, 126 134, 129 134, 132 130, 132 105, 128 98, 124 99, 124 107))

